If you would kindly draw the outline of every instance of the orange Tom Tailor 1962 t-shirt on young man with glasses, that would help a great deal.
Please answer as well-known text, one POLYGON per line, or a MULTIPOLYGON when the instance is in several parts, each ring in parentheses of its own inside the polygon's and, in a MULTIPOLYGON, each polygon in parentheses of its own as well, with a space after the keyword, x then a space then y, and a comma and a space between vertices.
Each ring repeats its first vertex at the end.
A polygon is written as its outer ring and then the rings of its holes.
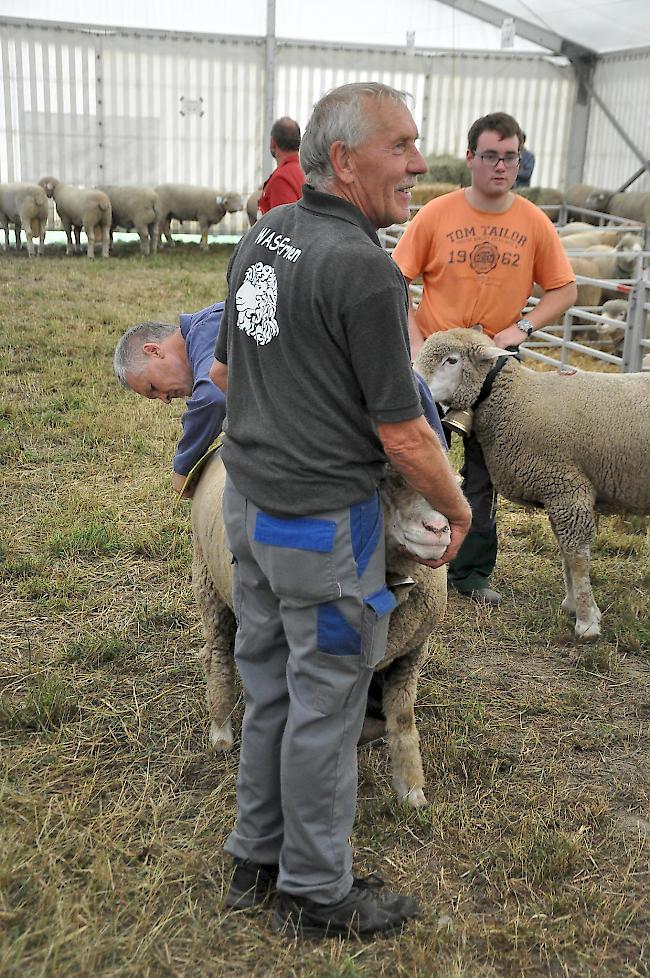
POLYGON ((407 226, 393 258, 406 278, 422 277, 423 336, 477 323, 494 336, 521 319, 533 283, 546 291, 575 281, 552 223, 519 196, 502 214, 476 210, 463 189, 437 197, 407 226))

